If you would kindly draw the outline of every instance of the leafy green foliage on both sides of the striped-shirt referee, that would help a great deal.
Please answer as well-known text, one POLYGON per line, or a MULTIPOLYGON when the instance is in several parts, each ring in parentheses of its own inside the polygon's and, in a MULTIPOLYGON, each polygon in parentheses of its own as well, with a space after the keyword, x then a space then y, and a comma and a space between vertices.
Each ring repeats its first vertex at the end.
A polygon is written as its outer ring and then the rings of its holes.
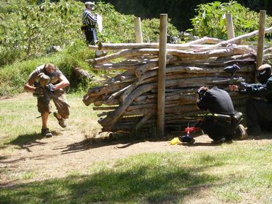
MULTIPOLYGON (((80 30, 81 15, 84 4, 74 0, 48 0, 38 4, 37 1, 10 1, 4 6, 5 24, 0 30, 0 66, 27 57, 45 55, 52 45, 66 47, 79 39, 84 39, 80 30)), ((111 4, 97 2, 96 13, 103 16, 103 32, 98 38, 103 42, 135 42, 134 18, 115 11, 111 4)), ((3 14, 2 14, 3 15, 3 14)), ((158 20, 143 23, 143 32, 153 35, 159 29, 158 20), (153 25, 154 24, 154 25, 153 25), (147 31, 146 31, 147 30, 147 31)), ((0 25, 1 26, 1 25, 0 25)), ((170 33, 177 33, 174 26, 169 26, 170 33)), ((144 38, 147 39, 148 36, 144 38)))

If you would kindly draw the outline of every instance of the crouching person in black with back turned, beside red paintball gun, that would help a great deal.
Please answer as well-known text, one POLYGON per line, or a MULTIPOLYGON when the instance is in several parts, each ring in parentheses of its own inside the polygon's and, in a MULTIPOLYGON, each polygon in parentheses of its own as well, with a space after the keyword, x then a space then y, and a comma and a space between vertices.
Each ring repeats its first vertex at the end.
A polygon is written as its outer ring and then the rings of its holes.
MULTIPOLYGON (((232 99, 227 91, 218 89, 217 86, 212 87, 212 89, 200 87, 196 92, 196 106, 200 110, 210 111, 199 124, 199 128, 215 144, 232 142, 236 135, 240 138, 245 137, 244 127, 239 125, 242 120, 242 113, 234 111, 232 99)), ((182 139, 181 142, 190 142, 188 138, 186 138, 186 141, 182 141, 182 139)))

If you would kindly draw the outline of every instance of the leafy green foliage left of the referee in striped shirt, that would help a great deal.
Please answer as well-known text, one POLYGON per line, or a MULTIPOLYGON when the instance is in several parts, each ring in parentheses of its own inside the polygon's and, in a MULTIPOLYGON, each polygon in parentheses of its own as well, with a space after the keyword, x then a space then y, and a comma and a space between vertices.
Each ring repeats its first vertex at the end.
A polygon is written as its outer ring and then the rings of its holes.
POLYGON ((6 18, 8 29, 1 35, 0 64, 12 62, 11 57, 30 57, 45 54, 52 45, 67 45, 80 38, 81 3, 60 0, 58 4, 42 4, 19 0, 6 18), (6 59, 6 60, 5 60, 6 59))

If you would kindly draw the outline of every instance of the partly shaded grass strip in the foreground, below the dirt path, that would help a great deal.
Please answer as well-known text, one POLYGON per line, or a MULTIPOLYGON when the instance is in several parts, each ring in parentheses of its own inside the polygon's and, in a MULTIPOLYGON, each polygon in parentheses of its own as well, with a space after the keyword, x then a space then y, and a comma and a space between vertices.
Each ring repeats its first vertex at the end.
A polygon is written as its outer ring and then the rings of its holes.
MULTIPOLYGON (((1 203, 271 203, 272 145, 220 152, 139 154, 2 189, 1 203)), ((30 174, 31 176, 31 174, 30 174)))

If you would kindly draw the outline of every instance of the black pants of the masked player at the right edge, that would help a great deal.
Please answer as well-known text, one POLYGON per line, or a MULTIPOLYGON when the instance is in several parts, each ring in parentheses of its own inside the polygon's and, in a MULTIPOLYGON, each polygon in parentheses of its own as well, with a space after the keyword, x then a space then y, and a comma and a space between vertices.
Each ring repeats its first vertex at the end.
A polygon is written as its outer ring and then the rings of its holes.
POLYGON ((246 101, 246 123, 249 131, 272 130, 272 103, 249 98, 246 101))

